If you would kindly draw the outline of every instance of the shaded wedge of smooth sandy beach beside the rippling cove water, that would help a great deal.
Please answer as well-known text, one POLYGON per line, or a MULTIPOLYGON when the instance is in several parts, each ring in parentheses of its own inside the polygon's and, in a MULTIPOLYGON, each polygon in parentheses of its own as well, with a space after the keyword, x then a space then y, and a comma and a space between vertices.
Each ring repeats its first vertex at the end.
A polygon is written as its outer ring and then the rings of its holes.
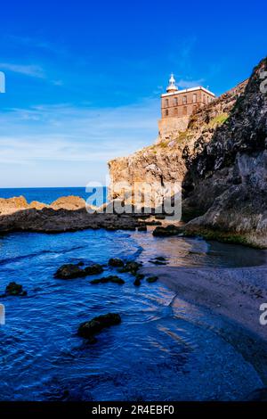
POLYGON ((266 341, 260 324, 261 304, 267 302, 267 266, 262 267, 145 267, 158 275, 176 296, 225 316, 266 341))

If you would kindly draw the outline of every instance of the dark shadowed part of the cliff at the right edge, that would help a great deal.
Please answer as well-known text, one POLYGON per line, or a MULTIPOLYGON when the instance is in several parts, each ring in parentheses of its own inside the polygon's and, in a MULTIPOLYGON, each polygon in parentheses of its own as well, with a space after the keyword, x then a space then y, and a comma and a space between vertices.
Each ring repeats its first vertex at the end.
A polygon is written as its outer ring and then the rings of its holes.
POLYGON ((266 70, 264 58, 255 67, 229 118, 214 130, 207 144, 200 136, 194 144, 193 157, 185 157, 188 171, 182 180, 184 221, 214 208, 214 214, 210 211, 210 217, 201 221, 226 228, 230 219, 221 217, 220 226, 220 219, 215 220, 218 211, 224 211, 226 218, 243 211, 245 217, 266 208, 267 102, 266 93, 261 91, 261 74, 266 70))

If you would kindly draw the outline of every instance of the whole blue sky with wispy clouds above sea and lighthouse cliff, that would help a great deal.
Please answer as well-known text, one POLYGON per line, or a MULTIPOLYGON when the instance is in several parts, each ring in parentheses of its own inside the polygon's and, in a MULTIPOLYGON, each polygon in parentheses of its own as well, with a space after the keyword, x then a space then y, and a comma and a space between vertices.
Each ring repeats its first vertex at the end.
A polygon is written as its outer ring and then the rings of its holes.
POLYGON ((222 94, 266 55, 263 1, 40 3, 0 6, 0 187, 103 182, 155 141, 172 71, 222 94))

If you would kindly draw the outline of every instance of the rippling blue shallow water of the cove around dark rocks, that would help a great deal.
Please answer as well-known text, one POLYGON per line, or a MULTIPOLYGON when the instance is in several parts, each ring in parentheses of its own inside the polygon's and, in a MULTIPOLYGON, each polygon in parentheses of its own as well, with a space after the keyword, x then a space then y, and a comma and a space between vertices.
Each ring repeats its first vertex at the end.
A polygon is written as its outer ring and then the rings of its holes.
MULTIPOLYGON (((266 261, 263 251, 197 239, 153 238, 150 233, 87 230, 64 234, 16 233, 0 238, 0 290, 16 281, 28 297, 0 299, 1 400, 242 399, 263 382, 223 340, 211 318, 174 299, 161 283, 134 287, 92 285, 96 276, 54 279, 63 263, 107 263, 111 257, 145 264, 167 255, 176 266, 247 266, 266 261), (245 250, 246 249, 246 250, 245 250), (246 254, 244 254, 246 252, 246 254), (122 324, 95 345, 77 327, 113 311, 122 324)), ((110 273, 108 268, 104 275, 110 273)))

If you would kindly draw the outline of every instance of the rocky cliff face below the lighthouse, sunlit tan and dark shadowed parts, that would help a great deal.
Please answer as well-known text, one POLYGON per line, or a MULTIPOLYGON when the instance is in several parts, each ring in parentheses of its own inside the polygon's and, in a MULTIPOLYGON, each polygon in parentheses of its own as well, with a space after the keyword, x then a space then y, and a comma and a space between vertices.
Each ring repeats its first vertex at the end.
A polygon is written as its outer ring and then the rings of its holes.
POLYGON ((267 247, 267 95, 264 59, 249 80, 195 112, 188 129, 109 162, 112 198, 131 201, 134 182, 182 183, 190 234, 267 247), (115 187, 126 181, 124 189, 115 187))

